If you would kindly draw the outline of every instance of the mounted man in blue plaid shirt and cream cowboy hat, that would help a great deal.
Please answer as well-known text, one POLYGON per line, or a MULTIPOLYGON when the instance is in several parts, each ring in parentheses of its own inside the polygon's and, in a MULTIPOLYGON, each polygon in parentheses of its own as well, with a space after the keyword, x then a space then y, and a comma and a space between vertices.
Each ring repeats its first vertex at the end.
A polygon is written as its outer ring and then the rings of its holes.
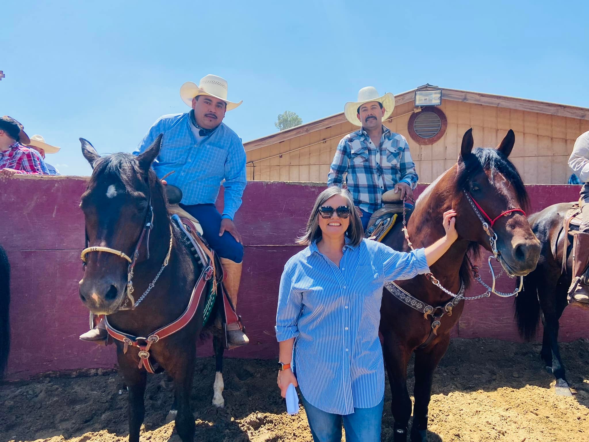
POLYGON ((383 193, 395 189, 401 199, 412 197, 418 180, 407 140, 382 124, 394 108, 395 96, 379 96, 372 86, 360 89, 358 101, 346 103, 346 118, 360 129, 339 142, 327 176, 327 186, 348 184, 365 230, 383 205, 383 193))

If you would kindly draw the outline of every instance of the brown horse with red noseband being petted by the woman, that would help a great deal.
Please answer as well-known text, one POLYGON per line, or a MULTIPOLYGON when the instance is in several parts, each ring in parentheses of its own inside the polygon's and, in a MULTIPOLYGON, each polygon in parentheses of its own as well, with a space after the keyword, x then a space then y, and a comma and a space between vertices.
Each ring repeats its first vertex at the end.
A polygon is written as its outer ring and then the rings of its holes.
MULTIPOLYGON (((484 220, 483 213, 496 217, 509 211, 489 230, 491 233, 494 230, 497 235, 498 259, 505 271, 510 275, 526 275, 536 266, 540 242, 532 233, 527 217, 521 210, 527 204, 527 193, 517 170, 507 159, 514 142, 514 133, 509 130, 497 149, 473 150, 472 130, 469 129, 462 139, 458 163, 438 177, 415 204, 407 225, 409 238, 415 248, 431 245, 444 236, 442 214, 446 210, 454 209, 458 213, 458 240, 431 267, 435 278, 449 292, 458 293, 461 283, 468 286, 471 278, 469 254, 477 252, 479 246, 492 251, 489 235, 481 222, 484 220), (479 209, 474 202, 479 204, 479 209), (511 211, 512 209, 517 210, 511 211)), ((393 227, 385 238, 385 243, 396 250, 409 250, 400 225, 393 227)), ((399 281, 398 286, 422 301, 423 305, 434 309, 441 306, 432 312, 438 313, 436 318, 440 321, 434 335, 432 325, 436 324, 432 322, 431 316, 424 318, 423 312, 401 302, 388 289, 383 292, 380 309, 380 332, 384 339, 383 353, 391 384, 391 408, 395 418, 394 440, 407 440, 411 416, 407 365, 412 352, 415 352, 415 407, 411 441, 425 442, 434 370, 448 348, 450 331, 462 314, 464 301, 456 302, 451 315, 448 315, 445 306, 452 301, 452 296, 435 286, 426 276, 399 281), (445 315, 439 318, 442 312, 445 315), (428 338, 428 344, 422 347, 428 338)))

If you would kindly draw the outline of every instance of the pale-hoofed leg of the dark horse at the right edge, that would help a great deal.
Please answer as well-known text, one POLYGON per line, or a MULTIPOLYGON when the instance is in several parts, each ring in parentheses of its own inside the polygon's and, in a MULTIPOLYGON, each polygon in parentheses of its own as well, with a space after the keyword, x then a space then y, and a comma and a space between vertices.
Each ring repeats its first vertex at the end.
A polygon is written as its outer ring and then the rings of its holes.
MULTIPOLYGON (((572 396, 571 389, 564 375, 564 366, 560 357, 558 348, 558 320, 564 310, 563 303, 558 304, 554 292, 552 299, 547 299, 540 293, 540 306, 542 308, 542 324, 544 324, 544 338, 550 348, 551 371, 556 379, 555 391, 558 396, 572 396)), ((542 339, 542 349, 544 349, 544 339, 542 339)), ((547 352, 546 352, 547 353, 547 352)), ((545 354, 546 354, 545 353, 545 354)), ((548 359, 545 359, 547 362, 548 359)))

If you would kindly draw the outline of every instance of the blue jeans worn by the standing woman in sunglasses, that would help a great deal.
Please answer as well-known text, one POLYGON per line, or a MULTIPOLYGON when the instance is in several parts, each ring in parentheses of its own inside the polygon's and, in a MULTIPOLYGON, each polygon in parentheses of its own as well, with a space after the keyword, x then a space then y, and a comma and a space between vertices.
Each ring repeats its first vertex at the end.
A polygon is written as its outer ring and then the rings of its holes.
POLYGON ((380 442, 384 397, 376 407, 354 408, 354 413, 346 415, 319 410, 309 404, 302 394, 300 397, 305 406, 313 441, 340 442, 343 420, 343 427, 346 428, 346 442, 380 442))

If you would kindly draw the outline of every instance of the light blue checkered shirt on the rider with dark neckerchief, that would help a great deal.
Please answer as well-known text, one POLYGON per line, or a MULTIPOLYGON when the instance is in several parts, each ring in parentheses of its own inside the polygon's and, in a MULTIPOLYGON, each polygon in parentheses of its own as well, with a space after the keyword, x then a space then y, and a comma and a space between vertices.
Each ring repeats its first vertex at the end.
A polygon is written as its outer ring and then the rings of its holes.
POLYGON ((182 190, 182 204, 214 204, 223 180, 223 217, 233 219, 241 206, 246 188, 246 152, 241 138, 225 124, 200 140, 190 128, 190 114, 171 114, 159 118, 133 152, 147 149, 159 134, 161 150, 153 163, 158 177, 173 170, 166 181, 182 190))

